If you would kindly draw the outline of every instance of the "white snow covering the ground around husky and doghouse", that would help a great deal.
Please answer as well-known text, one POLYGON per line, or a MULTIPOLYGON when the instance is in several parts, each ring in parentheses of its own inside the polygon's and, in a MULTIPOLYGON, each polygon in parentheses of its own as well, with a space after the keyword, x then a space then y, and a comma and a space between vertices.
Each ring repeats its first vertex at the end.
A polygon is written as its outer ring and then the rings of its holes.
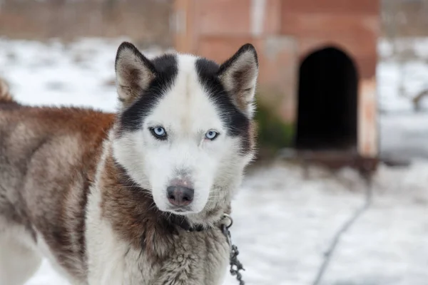
MULTIPOLYGON (((0 76, 23 103, 111 111, 119 42, 87 39, 64 46, 0 38, 0 76)), ((388 52, 387 44, 380 48, 388 52)), ((428 64, 418 65, 418 83, 409 81, 409 88, 428 78, 428 64)), ((428 115, 412 115, 409 100, 399 98, 397 72, 392 62, 379 64, 380 105, 388 111, 381 118, 382 150, 421 147, 423 152, 428 150, 428 132, 423 133, 428 115)), ((310 285, 330 239, 364 201, 363 183, 352 170, 330 173, 313 167, 309 177, 302 173, 284 162, 251 170, 234 201, 233 241, 247 269, 247 284, 310 285)), ((415 160, 404 169, 382 166, 374 177, 374 204, 343 237, 324 284, 427 285, 427 187, 428 161, 415 160)), ((238 283, 228 276, 225 285, 232 284, 238 283)), ((68 284, 44 262, 26 285, 68 284)))

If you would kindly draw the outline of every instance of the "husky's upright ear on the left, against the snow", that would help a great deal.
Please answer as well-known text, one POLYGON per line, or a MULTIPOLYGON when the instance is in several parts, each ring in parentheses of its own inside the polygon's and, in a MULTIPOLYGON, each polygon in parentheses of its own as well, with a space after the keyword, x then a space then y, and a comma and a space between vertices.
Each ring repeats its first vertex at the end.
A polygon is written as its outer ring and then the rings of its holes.
POLYGON ((118 96, 124 106, 131 105, 156 76, 153 63, 128 42, 118 48, 115 70, 118 96))

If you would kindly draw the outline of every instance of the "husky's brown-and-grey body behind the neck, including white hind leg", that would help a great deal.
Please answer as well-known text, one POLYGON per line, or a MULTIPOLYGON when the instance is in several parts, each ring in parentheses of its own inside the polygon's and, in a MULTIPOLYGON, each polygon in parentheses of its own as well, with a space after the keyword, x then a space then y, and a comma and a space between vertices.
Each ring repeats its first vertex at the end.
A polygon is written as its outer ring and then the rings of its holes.
POLYGON ((23 284, 40 264, 39 250, 83 279, 77 229, 113 120, 89 109, 21 105, 0 79, 0 285, 23 284))

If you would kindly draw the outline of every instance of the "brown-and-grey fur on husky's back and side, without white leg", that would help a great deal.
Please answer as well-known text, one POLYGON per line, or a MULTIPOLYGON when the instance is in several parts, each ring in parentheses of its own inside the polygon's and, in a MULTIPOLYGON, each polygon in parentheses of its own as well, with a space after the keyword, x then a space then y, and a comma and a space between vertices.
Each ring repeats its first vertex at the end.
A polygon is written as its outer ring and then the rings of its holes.
POLYGON ((34 237, 39 232, 59 264, 82 279, 82 209, 113 120, 112 114, 78 108, 0 108, 0 187, 19 190, 19 201, 11 201, 19 206, 15 220, 34 237), (4 177, 8 173, 16 175, 4 177))

